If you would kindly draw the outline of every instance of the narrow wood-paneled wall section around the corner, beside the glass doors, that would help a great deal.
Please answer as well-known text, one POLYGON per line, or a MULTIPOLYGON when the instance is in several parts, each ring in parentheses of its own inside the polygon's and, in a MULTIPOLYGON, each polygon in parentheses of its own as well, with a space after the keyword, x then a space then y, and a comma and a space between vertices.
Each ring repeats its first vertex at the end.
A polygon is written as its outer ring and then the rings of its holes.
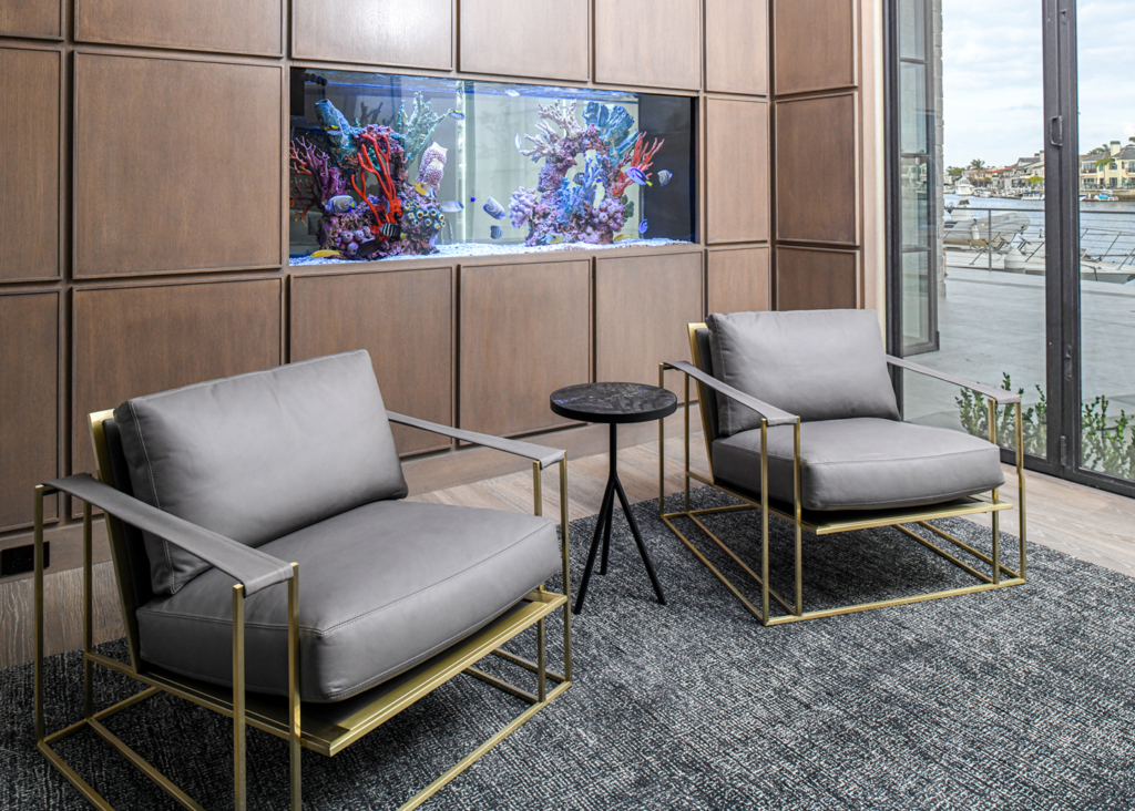
POLYGON ((877 167, 875 144, 864 147, 863 77, 873 78, 874 71, 860 64, 861 22, 865 12, 874 22, 874 3, 771 5, 775 306, 874 306, 863 276, 866 257, 878 259, 863 227, 864 188, 875 188, 866 176, 877 167))

